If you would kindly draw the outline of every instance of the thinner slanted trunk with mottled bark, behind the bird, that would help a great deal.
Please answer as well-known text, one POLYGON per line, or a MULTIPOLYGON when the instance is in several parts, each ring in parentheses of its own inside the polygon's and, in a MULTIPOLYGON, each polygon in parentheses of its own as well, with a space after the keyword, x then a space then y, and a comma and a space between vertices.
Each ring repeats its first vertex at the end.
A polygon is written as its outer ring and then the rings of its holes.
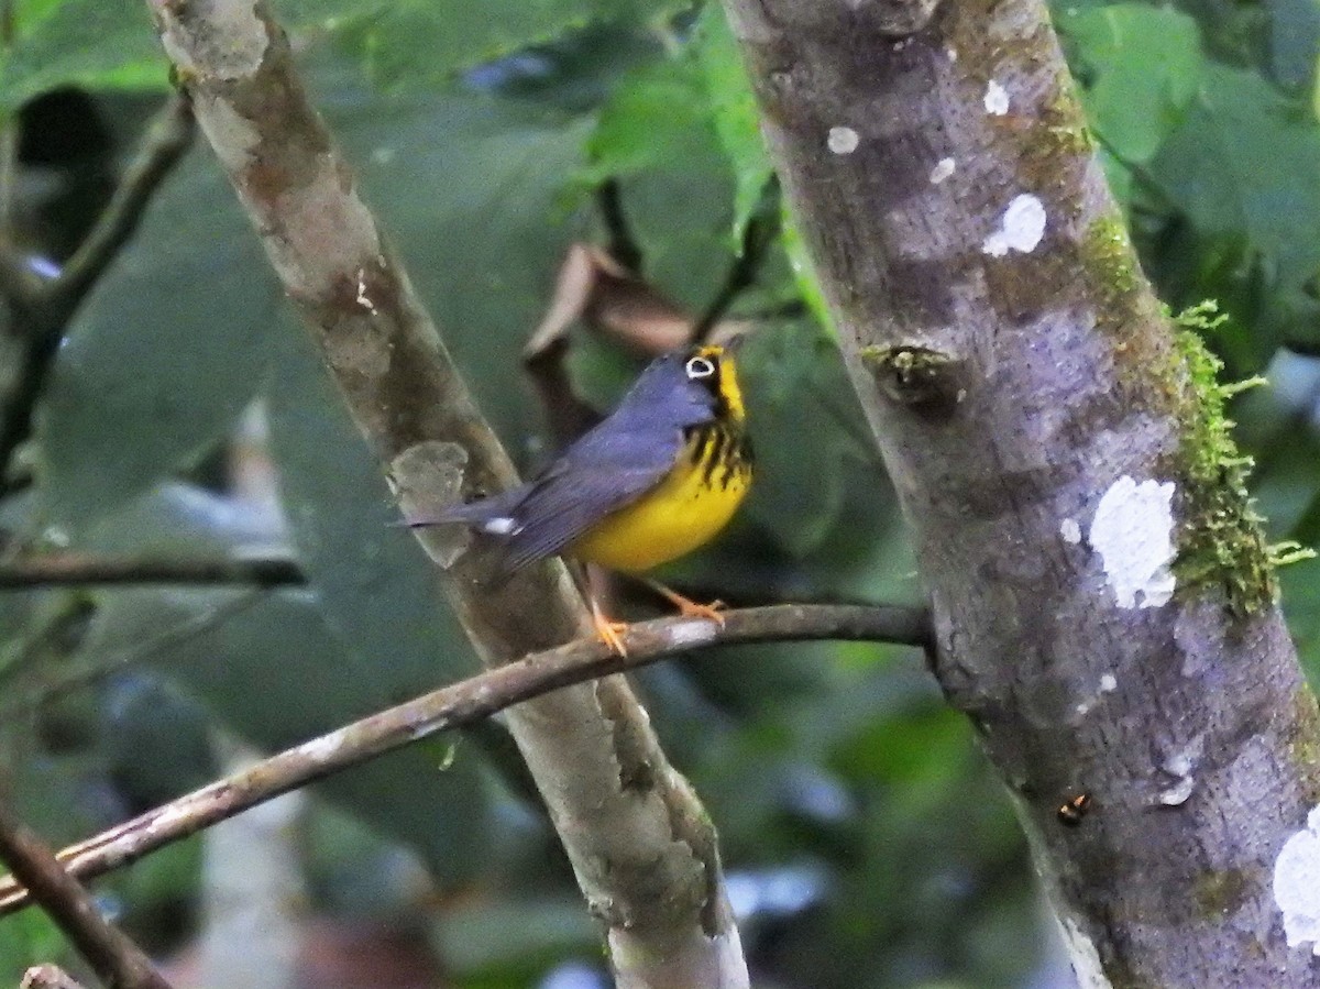
MULTIPOLYGON (((395 483, 417 493, 447 469, 449 498, 459 482, 469 491, 512 485, 512 465, 308 103, 267 5, 150 7, 198 124, 395 483)), ((475 555, 441 533, 425 539, 451 564, 442 582, 486 664, 589 634, 561 565, 529 568, 492 592, 475 555)), ((619 985, 744 986, 714 829, 626 681, 541 697, 511 712, 508 726, 605 923, 619 985)))

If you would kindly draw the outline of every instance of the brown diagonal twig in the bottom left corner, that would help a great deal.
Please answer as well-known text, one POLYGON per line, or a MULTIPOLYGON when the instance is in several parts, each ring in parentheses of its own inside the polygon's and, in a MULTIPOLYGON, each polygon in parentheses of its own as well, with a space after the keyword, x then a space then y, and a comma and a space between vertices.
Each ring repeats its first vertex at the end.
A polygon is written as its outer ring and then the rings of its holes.
POLYGON ((87 890, 65 871, 36 832, 17 820, 3 803, 0 858, 106 985, 114 989, 170 989, 143 949, 106 922, 87 890))

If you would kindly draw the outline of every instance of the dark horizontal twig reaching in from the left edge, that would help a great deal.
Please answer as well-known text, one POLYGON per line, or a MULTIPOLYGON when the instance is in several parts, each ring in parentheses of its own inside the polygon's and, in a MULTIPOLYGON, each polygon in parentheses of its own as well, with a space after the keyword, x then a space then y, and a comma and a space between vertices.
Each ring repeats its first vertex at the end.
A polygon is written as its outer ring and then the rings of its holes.
POLYGON ((273 556, 251 560, 160 560, 50 553, 0 564, 0 590, 115 584, 222 584, 275 588, 305 584, 298 564, 273 556))

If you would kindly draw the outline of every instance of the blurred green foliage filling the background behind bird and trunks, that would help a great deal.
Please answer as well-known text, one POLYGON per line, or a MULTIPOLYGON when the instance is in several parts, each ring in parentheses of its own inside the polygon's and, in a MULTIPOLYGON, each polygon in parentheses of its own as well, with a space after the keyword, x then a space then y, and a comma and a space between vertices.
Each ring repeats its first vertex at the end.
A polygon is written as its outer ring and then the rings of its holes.
MULTIPOLYGON (((605 240, 597 188, 616 184, 643 275, 694 313, 772 194, 713 4, 275 5, 367 199, 525 467, 544 438, 519 351, 566 247, 605 240)), ((1313 543, 1317 7, 1078 1, 1055 17, 1147 272, 1175 309, 1220 300, 1230 318, 1210 343, 1230 374, 1265 368, 1278 383, 1236 412, 1261 461, 1272 536, 1313 543)), ((83 87, 115 139, 108 164, 120 164, 168 90, 147 5, 18 0, 16 22, 0 111, 26 123, 42 94, 83 87)), ((37 252, 65 242, 42 226, 58 214, 21 207, 58 197, 61 181, 49 164, 20 165, 20 215, 45 218, 22 230, 37 252)), ((69 327, 40 409, 34 485, 0 504, 7 529, 91 553, 288 545, 309 584, 0 598, 0 763, 53 841, 207 779, 215 729, 282 746, 475 668, 455 623, 437 618, 433 570, 389 527, 388 491, 279 294, 199 148, 69 327), (256 400, 282 527, 202 487, 256 400)), ((785 226, 733 313, 762 326, 743 355, 760 479, 733 529, 668 576, 734 602, 917 601, 902 520, 817 306, 785 226)), ((631 368, 582 337, 570 370, 603 404, 631 368)), ((1316 566, 1284 573, 1312 672, 1316 566)), ((759 984, 1007 986, 1041 973, 1026 850, 917 656, 743 647, 639 680, 721 828, 759 984)), ((416 747, 318 787, 305 848, 323 908, 408 912, 455 985, 492 989, 599 961, 566 864, 498 735, 416 747), (409 856, 440 883, 440 907, 409 899, 397 865, 409 856)), ((194 902, 197 858, 185 849, 135 866, 106 895, 168 947, 161 904, 194 902)), ((0 981, 61 952, 34 912, 0 922, 0 981)))

